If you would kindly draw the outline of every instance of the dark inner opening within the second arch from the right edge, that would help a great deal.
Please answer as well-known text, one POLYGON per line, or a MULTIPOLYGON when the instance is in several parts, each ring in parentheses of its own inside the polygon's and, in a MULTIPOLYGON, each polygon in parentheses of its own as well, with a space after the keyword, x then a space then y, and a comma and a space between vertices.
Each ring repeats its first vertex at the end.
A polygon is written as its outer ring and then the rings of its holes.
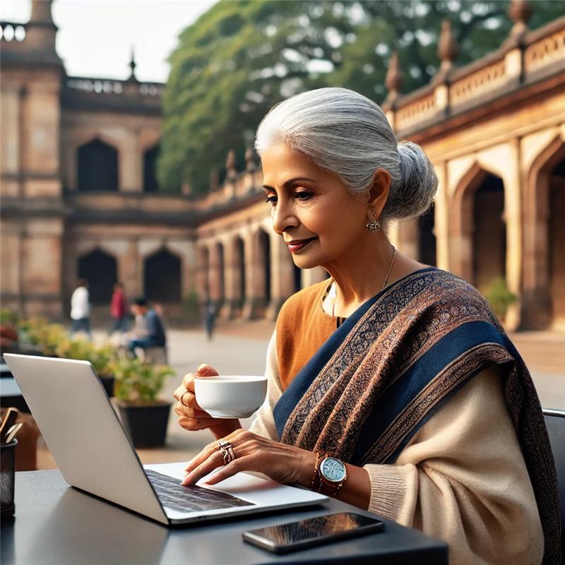
POLYGON ((494 174, 475 190, 472 218, 472 283, 484 292, 506 275, 504 184, 494 174))

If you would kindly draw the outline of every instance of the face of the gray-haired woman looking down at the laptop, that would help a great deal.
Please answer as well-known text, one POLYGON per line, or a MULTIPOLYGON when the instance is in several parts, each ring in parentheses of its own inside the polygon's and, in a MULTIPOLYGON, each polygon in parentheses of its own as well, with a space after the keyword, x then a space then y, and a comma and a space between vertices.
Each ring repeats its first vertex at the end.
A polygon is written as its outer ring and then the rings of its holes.
POLYGON ((335 175, 280 143, 263 152, 263 188, 273 229, 299 268, 328 266, 367 237, 368 196, 353 196, 335 175))

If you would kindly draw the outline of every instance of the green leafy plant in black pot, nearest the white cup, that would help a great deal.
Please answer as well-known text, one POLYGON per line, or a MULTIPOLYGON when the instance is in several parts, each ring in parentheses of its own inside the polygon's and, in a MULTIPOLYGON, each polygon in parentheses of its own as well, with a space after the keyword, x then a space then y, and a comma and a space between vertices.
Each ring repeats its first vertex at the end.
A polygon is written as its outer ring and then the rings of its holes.
POLYGON ((171 403, 157 395, 167 376, 175 374, 172 367, 125 357, 112 363, 112 373, 121 422, 133 446, 165 444, 171 403))

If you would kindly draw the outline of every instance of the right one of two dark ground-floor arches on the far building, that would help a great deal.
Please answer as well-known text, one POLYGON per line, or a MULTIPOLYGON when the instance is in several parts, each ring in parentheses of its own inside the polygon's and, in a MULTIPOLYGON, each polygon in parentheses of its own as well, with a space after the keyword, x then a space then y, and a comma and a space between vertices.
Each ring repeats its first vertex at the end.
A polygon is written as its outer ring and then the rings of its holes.
POLYGON ((145 259, 143 292, 154 302, 180 302, 181 260, 166 249, 145 259))

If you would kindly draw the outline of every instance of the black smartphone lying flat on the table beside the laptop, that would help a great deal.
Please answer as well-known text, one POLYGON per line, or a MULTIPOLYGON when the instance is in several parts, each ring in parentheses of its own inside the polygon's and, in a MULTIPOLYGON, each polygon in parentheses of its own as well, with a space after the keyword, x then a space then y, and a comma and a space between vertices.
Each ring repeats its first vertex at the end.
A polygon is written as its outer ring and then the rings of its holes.
POLYGON ((251 530, 244 532, 242 537, 270 552, 288 553, 347 537, 382 532, 383 529, 384 523, 377 518, 340 512, 251 530))

